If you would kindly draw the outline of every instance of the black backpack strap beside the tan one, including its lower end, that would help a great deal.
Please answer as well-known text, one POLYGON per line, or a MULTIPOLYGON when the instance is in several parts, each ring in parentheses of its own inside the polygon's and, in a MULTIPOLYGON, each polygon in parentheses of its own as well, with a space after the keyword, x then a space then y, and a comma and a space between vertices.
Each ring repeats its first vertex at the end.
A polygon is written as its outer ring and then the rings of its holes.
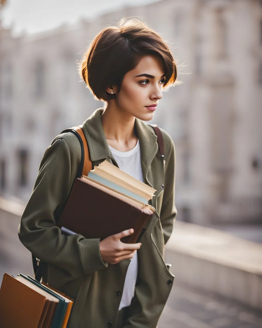
MULTIPOLYGON (((69 129, 65 129, 61 133, 66 133, 66 132, 73 133, 78 138, 78 140, 80 142, 81 161, 80 161, 80 165, 79 165, 79 168, 78 168, 78 171, 77 171, 77 174, 76 174, 76 178, 79 178, 82 175, 83 168, 84 168, 84 144, 83 144, 81 136, 74 129, 74 127, 69 128, 69 129)), ((37 259, 33 254, 32 254, 32 262, 33 262, 33 269, 34 269, 35 279, 40 282, 40 280, 42 278, 42 280, 47 283, 47 262, 37 259)))

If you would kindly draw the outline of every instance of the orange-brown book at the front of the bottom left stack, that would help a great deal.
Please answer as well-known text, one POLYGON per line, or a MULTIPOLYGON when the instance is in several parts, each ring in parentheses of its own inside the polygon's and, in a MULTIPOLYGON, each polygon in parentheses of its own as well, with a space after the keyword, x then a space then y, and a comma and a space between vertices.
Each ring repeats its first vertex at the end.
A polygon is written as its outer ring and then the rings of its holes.
POLYGON ((0 289, 1 328, 44 328, 50 301, 34 287, 5 273, 0 289))

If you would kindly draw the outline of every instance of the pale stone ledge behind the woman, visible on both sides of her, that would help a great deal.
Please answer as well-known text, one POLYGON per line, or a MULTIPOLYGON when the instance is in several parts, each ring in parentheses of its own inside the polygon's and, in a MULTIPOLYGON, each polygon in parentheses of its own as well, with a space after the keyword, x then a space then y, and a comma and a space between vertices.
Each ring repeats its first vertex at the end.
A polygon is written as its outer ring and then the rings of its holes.
MULTIPOLYGON (((6 270, 14 275, 32 275, 30 252, 17 234, 24 208, 0 197, 1 241, 9 259, 9 265, 0 270, 1 276, 6 270)), ((165 259, 173 264, 175 283, 181 281, 262 310, 261 244, 177 221, 166 245, 165 259)))

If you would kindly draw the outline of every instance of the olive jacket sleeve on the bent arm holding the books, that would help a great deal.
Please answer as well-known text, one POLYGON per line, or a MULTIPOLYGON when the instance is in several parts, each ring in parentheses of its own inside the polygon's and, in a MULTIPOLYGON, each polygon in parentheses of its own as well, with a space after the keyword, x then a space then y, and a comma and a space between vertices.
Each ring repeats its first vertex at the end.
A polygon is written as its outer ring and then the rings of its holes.
POLYGON ((72 138, 71 147, 61 137, 47 148, 18 235, 34 256, 66 270, 75 279, 103 269, 107 263, 100 254, 100 239, 65 236, 56 226, 56 213, 65 206, 81 159, 79 141, 72 138))

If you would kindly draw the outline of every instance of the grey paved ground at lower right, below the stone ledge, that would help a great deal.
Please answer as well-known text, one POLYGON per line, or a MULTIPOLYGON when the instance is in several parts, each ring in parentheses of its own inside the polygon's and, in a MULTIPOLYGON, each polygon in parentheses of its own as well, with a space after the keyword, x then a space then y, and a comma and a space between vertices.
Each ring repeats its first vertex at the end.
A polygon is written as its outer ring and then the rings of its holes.
POLYGON ((177 283, 158 328, 261 328, 262 312, 177 283))

